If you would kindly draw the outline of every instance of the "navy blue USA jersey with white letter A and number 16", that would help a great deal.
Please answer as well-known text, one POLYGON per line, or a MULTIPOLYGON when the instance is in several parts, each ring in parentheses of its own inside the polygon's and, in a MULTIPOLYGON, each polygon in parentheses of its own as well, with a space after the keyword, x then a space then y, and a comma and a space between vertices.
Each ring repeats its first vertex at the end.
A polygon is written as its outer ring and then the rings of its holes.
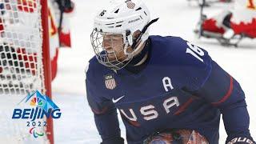
MULTIPOLYGON (((103 143, 120 138, 117 110, 129 144, 166 129, 197 130, 218 143, 220 114, 227 141, 250 138, 249 114, 238 82, 206 50, 178 37, 150 36, 145 68, 108 69, 90 59, 86 93, 103 143)), ((117 142, 118 143, 118 142, 117 142)))

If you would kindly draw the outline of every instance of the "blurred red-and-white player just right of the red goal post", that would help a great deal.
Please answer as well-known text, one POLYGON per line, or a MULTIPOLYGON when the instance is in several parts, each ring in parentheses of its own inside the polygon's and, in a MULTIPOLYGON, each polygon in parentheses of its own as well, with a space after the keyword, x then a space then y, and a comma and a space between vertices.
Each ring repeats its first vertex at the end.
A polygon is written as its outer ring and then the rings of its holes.
POLYGON ((52 79, 58 72, 58 51, 60 47, 71 47, 70 18, 74 12, 71 0, 49 0, 50 58, 52 79))

